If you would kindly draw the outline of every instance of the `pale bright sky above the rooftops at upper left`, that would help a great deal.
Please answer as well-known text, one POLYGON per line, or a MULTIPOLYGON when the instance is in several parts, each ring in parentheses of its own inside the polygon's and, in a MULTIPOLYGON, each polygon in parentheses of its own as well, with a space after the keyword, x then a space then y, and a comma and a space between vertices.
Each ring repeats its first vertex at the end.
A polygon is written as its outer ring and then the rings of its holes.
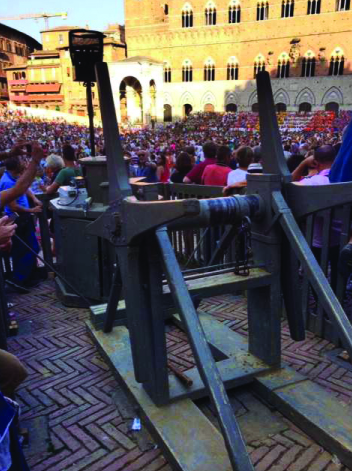
MULTIPOLYGON (((124 24, 123 0, 0 0, 0 18, 30 13, 63 13, 67 19, 49 18, 49 28, 55 26, 82 26, 89 29, 104 30, 110 23, 124 24)), ((40 31, 45 29, 44 19, 2 20, 11 28, 18 29, 41 42, 40 31)))

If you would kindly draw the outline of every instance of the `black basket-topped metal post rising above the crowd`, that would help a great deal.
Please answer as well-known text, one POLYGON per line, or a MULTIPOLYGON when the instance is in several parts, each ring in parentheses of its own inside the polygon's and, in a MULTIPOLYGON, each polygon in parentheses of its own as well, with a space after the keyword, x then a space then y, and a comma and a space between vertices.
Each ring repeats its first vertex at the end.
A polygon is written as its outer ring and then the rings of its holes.
POLYGON ((99 31, 74 29, 69 32, 69 49, 73 65, 73 80, 83 82, 86 87, 87 111, 89 118, 90 149, 95 156, 94 109, 92 86, 96 82, 94 66, 103 61, 105 35, 99 31))

